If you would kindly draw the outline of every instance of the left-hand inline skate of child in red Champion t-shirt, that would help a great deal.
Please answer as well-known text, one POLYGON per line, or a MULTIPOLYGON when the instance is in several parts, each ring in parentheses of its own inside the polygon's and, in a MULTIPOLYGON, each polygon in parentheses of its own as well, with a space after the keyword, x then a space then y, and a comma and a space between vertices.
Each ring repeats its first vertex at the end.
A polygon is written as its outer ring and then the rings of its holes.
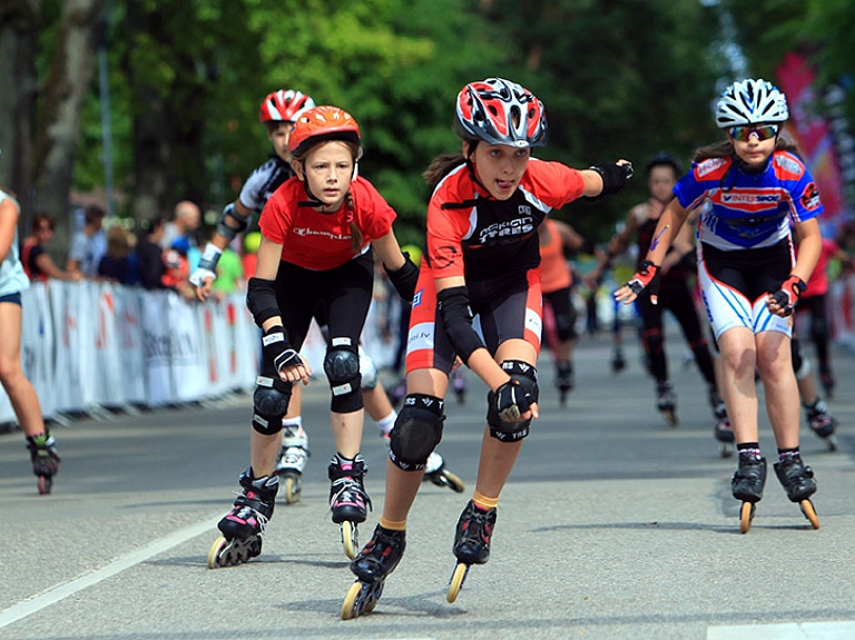
POLYGON ((232 567, 248 562, 262 552, 262 533, 273 516, 279 476, 253 479, 253 469, 238 477, 244 492, 235 500, 235 508, 217 524, 223 533, 210 548, 208 568, 232 567))

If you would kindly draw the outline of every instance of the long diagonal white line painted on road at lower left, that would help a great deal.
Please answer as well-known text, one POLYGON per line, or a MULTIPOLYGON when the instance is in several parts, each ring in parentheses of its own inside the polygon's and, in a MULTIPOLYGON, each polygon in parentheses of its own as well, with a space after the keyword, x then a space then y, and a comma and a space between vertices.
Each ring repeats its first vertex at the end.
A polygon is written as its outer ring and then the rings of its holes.
POLYGON ((178 531, 160 538, 159 540, 155 540, 154 542, 137 549, 136 551, 120 555, 101 569, 97 569, 91 573, 86 573, 80 578, 72 580, 71 582, 59 584, 40 595, 19 602, 9 609, 4 609, 3 611, 0 611, 0 629, 8 627, 18 620, 22 620, 28 616, 32 616, 33 613, 37 613, 42 609, 50 607, 51 604, 56 604, 69 595, 73 595, 78 591, 82 591, 83 589, 88 589, 94 584, 98 584, 108 578, 112 578, 117 573, 121 573, 126 569, 130 569, 136 564, 140 564, 149 558, 154 558, 155 555, 164 553, 165 551, 169 551, 174 547, 184 544, 188 540, 193 540, 206 531, 216 530, 218 521, 219 518, 216 520, 205 520, 203 522, 197 522, 196 524, 185 526, 184 529, 179 529, 178 531))

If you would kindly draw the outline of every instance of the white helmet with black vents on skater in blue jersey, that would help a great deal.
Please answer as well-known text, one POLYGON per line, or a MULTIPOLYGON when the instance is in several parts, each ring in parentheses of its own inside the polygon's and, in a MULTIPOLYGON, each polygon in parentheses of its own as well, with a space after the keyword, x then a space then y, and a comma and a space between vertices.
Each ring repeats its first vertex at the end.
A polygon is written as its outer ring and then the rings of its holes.
POLYGON ((719 129, 784 122, 788 118, 787 98, 766 80, 734 82, 725 89, 716 104, 716 125, 719 129))

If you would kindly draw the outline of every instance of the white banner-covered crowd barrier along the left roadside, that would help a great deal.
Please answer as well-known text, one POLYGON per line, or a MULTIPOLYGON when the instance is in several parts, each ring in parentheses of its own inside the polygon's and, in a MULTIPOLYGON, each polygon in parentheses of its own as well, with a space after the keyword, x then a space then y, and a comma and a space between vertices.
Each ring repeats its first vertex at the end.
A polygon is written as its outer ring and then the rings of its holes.
MULTIPOLYGON (((22 305, 23 371, 46 417, 255 388, 259 331, 244 292, 202 304, 173 292, 49 280, 23 292, 22 305)), ((370 314, 366 327, 372 322, 370 314)), ((363 346, 379 366, 394 353, 375 331, 365 332, 363 346)), ((322 378, 324 351, 313 323, 301 353, 322 378)), ((0 424, 14 420, 0 387, 0 424)))

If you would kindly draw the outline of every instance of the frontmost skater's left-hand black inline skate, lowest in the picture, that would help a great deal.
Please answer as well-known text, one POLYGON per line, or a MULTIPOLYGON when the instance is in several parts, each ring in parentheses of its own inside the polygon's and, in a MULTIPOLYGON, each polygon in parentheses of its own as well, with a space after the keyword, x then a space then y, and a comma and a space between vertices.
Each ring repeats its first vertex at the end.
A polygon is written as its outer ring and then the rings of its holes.
POLYGON ((356 581, 342 604, 342 620, 371 613, 383 593, 386 577, 395 570, 406 548, 404 531, 391 531, 380 524, 365 548, 351 562, 356 581))

